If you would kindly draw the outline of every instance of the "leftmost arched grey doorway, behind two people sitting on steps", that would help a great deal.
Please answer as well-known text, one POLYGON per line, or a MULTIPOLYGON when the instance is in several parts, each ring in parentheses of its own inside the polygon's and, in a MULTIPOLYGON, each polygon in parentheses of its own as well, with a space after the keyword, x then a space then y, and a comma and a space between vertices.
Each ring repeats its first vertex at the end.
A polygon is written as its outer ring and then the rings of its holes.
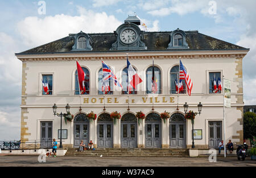
POLYGON ((86 114, 77 114, 74 118, 74 147, 79 147, 81 140, 84 144, 89 143, 89 119, 86 114))

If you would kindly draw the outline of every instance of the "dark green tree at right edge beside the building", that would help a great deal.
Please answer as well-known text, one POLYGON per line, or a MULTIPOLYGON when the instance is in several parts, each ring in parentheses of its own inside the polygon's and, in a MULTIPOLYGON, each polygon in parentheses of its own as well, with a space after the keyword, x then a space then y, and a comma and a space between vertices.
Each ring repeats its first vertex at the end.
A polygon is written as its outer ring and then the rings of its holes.
POLYGON ((252 140, 253 136, 256 136, 256 114, 246 112, 243 114, 243 137, 252 140))

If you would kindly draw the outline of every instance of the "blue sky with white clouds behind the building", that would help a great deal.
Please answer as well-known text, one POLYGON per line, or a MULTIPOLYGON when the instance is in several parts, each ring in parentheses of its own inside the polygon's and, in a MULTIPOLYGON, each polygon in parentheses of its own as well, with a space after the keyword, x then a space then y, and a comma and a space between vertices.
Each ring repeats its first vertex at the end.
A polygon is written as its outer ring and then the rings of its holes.
POLYGON ((68 36, 113 32, 136 13, 148 31, 198 30, 250 48, 243 60, 246 105, 256 105, 256 1, 238 0, 45 0, 0 1, 0 140, 19 139, 22 63, 14 53, 68 36))

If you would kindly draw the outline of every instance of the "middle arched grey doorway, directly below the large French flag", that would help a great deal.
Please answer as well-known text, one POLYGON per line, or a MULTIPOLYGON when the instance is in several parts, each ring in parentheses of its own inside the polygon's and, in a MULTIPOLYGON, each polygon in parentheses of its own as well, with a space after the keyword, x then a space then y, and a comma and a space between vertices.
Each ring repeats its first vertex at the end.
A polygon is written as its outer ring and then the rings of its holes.
POLYGON ((121 118, 121 147, 137 147, 137 118, 134 114, 126 113, 121 118))

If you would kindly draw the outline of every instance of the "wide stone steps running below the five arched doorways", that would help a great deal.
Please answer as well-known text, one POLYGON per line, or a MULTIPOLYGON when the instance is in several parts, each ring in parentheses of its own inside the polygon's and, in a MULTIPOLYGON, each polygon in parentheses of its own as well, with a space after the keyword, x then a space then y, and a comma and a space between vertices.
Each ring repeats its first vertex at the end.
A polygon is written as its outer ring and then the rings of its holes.
POLYGON ((169 148, 97 148, 80 152, 77 148, 69 148, 65 156, 127 156, 127 157, 159 157, 189 156, 188 149, 169 148))

